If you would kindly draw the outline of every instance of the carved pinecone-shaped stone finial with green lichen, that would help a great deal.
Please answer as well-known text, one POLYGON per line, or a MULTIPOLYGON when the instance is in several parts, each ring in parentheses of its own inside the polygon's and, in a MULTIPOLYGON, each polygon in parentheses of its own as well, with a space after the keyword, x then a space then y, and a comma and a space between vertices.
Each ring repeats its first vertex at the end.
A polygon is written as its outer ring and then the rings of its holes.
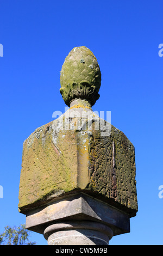
POLYGON ((101 71, 96 57, 85 46, 74 47, 62 65, 60 93, 67 106, 75 99, 87 100, 93 106, 99 99, 101 71))

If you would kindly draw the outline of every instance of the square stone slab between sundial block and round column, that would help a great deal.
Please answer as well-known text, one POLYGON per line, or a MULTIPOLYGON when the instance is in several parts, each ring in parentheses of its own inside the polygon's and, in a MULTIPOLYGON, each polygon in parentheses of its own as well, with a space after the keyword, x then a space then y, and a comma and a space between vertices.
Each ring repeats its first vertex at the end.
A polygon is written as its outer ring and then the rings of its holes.
POLYGON ((111 227, 114 235, 130 231, 129 216, 126 213, 83 192, 69 194, 64 199, 55 198, 50 204, 30 210, 26 217, 26 228, 43 234, 45 227, 52 223, 70 221, 101 223, 111 227))

